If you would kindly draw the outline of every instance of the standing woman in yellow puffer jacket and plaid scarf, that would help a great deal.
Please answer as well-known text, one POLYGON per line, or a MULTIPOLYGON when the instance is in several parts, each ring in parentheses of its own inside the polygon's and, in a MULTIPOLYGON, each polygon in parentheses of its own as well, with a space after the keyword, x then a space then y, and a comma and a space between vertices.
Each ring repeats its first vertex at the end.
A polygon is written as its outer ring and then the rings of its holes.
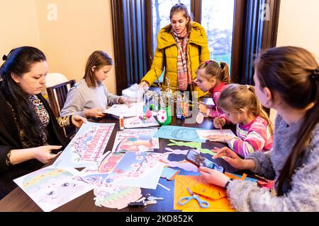
MULTIPOLYGON (((152 85, 161 76, 165 67, 165 77, 173 91, 197 91, 203 96, 200 88, 194 85, 196 69, 210 59, 205 29, 194 21, 184 4, 176 4, 170 11, 171 23, 157 35, 157 49, 150 71, 142 78, 140 88, 152 85)), ((164 78, 162 90, 167 88, 164 78)))

